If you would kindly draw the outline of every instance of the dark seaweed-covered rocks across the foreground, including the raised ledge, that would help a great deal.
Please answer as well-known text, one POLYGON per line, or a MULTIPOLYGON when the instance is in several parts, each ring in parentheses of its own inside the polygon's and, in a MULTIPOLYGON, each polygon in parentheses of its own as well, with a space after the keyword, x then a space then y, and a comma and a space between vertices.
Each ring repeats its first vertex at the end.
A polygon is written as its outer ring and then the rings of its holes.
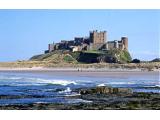
MULTIPOLYGON (((65 99, 82 99, 91 102, 79 103, 32 103, 2 105, 2 110, 160 110, 159 93, 137 93, 128 88, 96 87, 75 90, 79 96, 66 96, 65 99)), ((20 96, 19 96, 20 97, 20 96)), ((28 96, 22 96, 27 98, 28 96)), ((29 96, 31 97, 31 96, 29 96)), ((43 96, 33 96, 39 98, 43 96)), ((16 96, 2 96, 1 99, 14 99, 16 96)))

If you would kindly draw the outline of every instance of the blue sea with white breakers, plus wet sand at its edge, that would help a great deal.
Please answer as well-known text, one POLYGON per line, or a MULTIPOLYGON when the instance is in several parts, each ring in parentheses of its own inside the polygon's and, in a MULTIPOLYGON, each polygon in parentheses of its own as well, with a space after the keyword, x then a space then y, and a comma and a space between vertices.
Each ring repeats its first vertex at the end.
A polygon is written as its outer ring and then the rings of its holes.
POLYGON ((66 96, 78 96, 75 89, 96 86, 160 93, 159 72, 1 71, 0 105, 91 102, 66 96))

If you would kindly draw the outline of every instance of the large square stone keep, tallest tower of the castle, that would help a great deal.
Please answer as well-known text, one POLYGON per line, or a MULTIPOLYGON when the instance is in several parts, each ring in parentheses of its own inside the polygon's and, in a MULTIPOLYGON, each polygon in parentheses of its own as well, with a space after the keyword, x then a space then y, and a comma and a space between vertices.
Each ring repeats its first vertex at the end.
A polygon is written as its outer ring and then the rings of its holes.
POLYGON ((106 43, 106 31, 91 31, 90 42, 93 44, 104 44, 106 43))

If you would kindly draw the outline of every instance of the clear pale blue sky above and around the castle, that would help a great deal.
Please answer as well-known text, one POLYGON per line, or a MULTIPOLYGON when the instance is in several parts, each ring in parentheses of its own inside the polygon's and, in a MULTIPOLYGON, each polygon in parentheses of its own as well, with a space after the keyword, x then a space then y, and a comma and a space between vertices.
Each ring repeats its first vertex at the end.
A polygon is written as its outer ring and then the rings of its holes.
POLYGON ((49 43, 107 31, 127 36, 132 58, 160 57, 160 10, 0 10, 0 62, 43 54, 49 43))

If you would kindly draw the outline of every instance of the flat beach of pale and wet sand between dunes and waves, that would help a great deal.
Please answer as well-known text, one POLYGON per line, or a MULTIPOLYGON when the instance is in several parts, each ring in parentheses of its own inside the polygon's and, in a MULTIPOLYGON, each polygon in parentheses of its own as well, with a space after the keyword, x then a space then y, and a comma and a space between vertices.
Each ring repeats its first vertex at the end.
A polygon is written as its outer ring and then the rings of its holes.
MULTIPOLYGON (((91 69, 91 68, 0 68, 0 72, 37 73, 49 76, 89 76, 89 77, 114 77, 123 78, 128 76, 159 76, 159 71, 143 71, 141 69, 91 69)), ((157 78, 158 79, 158 78, 157 78)))

